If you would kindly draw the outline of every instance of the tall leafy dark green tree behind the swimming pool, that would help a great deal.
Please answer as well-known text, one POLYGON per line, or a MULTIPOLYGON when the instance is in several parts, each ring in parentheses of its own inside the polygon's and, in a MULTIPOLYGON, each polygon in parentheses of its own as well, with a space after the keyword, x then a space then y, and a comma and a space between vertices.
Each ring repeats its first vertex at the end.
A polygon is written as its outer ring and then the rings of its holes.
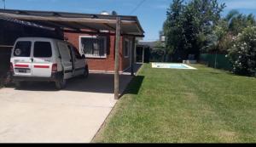
POLYGON ((198 58, 200 50, 211 42, 209 35, 220 19, 224 4, 217 0, 173 0, 167 11, 164 31, 166 47, 175 60, 187 59, 189 54, 198 58))

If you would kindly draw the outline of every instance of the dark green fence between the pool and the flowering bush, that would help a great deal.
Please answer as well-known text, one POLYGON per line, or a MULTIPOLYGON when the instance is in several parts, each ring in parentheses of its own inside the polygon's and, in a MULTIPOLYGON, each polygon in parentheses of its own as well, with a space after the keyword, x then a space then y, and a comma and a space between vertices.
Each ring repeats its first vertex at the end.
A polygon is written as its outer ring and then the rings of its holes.
POLYGON ((200 54, 200 62, 209 67, 230 71, 232 65, 225 54, 200 54))

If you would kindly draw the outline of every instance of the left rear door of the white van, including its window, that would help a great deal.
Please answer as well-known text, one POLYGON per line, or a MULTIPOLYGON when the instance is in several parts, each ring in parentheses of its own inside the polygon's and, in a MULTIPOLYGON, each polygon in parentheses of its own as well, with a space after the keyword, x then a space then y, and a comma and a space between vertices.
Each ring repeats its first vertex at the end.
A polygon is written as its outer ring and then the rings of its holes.
POLYGON ((12 53, 14 76, 32 76, 32 42, 18 41, 12 53))

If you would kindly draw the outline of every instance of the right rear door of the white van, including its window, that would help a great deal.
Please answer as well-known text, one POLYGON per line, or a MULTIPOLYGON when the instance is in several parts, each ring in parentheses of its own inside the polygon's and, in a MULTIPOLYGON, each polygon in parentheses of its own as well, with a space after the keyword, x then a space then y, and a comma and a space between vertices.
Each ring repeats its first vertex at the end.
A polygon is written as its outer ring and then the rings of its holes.
POLYGON ((52 43, 35 41, 32 56, 32 76, 50 77, 52 68, 52 43))

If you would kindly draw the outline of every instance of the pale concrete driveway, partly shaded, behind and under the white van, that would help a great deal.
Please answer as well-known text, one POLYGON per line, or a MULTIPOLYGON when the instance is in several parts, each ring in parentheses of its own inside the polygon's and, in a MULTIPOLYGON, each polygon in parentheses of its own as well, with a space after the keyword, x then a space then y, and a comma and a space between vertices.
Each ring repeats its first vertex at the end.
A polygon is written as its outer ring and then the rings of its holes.
MULTIPOLYGON (((120 76, 120 90, 131 76, 120 76)), ((113 75, 0 89, 0 143, 89 143, 113 109, 113 75)))

